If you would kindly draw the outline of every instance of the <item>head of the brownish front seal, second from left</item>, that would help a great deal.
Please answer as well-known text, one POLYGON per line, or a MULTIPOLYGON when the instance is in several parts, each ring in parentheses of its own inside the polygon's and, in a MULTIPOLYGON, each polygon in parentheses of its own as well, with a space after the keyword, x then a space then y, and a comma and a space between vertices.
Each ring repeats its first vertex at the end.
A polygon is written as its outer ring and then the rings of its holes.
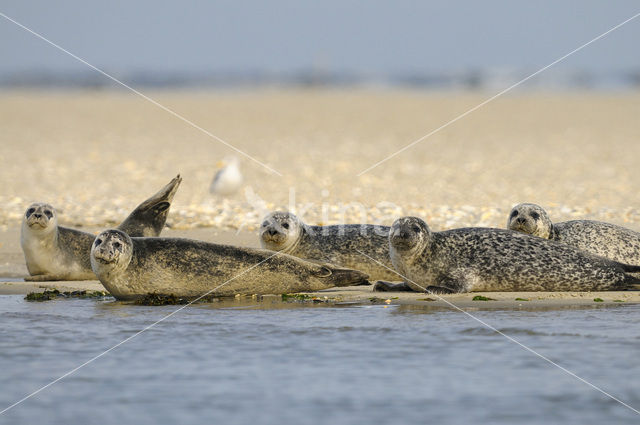
POLYGON ((91 268, 94 272, 96 269, 125 269, 132 255, 133 243, 129 235, 121 230, 105 230, 96 236, 91 246, 91 268))

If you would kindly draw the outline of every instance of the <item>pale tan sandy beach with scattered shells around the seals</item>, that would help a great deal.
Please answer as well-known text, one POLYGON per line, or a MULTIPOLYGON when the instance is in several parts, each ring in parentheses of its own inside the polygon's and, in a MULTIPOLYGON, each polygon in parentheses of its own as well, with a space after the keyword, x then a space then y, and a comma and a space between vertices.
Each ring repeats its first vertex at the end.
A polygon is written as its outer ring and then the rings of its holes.
MULTIPOLYGON (((527 201, 547 207, 555 221, 589 218, 640 230, 637 94, 501 98, 361 176, 483 97, 264 90, 154 98, 282 175, 128 94, 3 93, 0 293, 101 287, 18 282, 27 274, 19 229, 30 202, 50 202, 62 225, 96 233, 178 172, 184 181, 164 235, 241 246, 259 246, 261 217, 290 207, 311 224, 391 224, 417 215, 442 230, 503 227, 509 209, 527 201), (208 193, 215 162, 230 154, 241 159, 245 185, 231 198, 216 198, 208 193)), ((424 294, 374 294, 370 287, 311 296, 445 304, 421 301, 424 294)), ((472 297, 445 298, 477 306, 472 297)), ((497 301, 487 305, 496 306, 640 302, 636 293, 490 297, 497 301)))

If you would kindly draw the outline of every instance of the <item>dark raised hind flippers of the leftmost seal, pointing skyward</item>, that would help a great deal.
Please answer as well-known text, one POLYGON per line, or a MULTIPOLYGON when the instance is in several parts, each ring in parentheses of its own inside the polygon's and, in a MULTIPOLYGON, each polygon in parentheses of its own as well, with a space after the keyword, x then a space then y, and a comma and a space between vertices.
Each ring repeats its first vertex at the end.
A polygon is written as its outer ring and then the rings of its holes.
POLYGON ((167 221, 173 197, 182 182, 178 174, 158 193, 141 203, 118 226, 131 237, 158 236, 167 221))

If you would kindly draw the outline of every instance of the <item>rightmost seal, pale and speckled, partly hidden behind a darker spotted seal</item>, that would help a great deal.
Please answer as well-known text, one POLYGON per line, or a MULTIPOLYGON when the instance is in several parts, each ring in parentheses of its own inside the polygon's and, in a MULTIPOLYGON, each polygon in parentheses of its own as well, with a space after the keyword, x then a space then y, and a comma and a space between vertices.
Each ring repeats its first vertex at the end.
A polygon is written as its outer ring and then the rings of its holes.
POLYGON ((509 214, 507 228, 561 242, 621 263, 640 265, 640 233, 615 224, 572 220, 553 224, 536 204, 519 204, 509 214))

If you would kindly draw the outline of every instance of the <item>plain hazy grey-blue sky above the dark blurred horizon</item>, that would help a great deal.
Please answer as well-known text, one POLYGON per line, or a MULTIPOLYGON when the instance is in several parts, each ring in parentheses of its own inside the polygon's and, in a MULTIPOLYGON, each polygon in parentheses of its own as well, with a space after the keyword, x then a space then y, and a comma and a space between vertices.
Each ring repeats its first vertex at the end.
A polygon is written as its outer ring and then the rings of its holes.
MULTIPOLYGON (((0 12, 109 72, 364 75, 537 69, 640 12, 637 1, 0 0, 0 12)), ((563 61, 640 69, 640 17, 563 61)), ((85 65, 0 17, 0 76, 85 65)))

